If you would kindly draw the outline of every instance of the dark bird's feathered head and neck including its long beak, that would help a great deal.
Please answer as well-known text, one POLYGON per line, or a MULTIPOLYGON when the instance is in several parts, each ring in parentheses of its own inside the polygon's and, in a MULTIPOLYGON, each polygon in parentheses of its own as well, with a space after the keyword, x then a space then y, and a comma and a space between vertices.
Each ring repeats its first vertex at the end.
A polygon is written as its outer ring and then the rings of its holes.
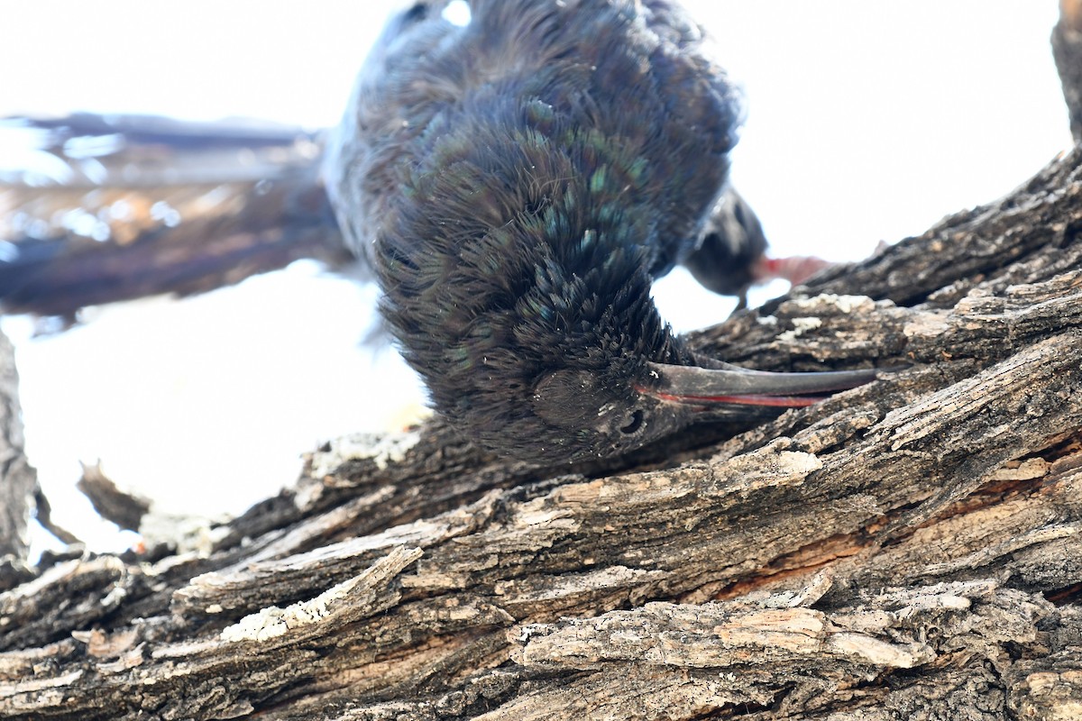
MULTIPOLYGON (((515 239, 485 256, 498 272, 460 257, 427 286, 438 299, 384 308, 436 410, 490 452, 539 464, 619 456, 692 423, 763 417, 764 406, 808 405, 819 397, 807 393, 874 377, 700 359, 661 319, 645 250, 593 230, 562 244, 528 224, 499 232, 515 239)), ((394 301, 406 286, 386 288, 394 301)))

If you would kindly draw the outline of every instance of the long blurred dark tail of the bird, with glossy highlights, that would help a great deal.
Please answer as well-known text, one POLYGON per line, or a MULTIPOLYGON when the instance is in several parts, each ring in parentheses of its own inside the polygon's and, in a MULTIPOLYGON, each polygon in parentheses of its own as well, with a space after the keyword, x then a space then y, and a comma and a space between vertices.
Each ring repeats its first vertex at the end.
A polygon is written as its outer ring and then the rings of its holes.
POLYGON ((236 283, 346 251, 321 139, 256 121, 151 116, 0 120, 0 309, 88 305, 236 283), (6 142, 5 142, 6 141, 6 142))

